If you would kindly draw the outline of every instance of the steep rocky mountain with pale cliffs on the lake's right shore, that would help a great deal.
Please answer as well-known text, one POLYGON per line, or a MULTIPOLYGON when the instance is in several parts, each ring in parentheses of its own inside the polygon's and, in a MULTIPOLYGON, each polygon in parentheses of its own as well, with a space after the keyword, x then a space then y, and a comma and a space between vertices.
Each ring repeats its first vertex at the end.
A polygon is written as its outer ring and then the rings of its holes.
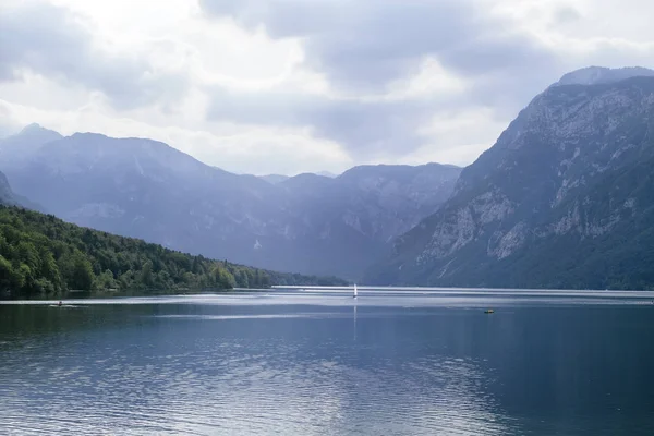
POLYGON ((536 96, 376 284, 654 286, 654 72, 585 69, 536 96))

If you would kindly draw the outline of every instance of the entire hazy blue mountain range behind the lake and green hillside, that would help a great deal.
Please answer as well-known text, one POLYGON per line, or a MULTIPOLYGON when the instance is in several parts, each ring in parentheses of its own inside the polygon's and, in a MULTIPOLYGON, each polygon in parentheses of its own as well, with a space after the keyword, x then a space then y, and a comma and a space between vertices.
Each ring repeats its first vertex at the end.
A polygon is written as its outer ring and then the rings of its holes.
POLYGON ((237 175, 150 140, 31 125, 0 141, 0 202, 371 284, 650 289, 653 168, 654 71, 588 68, 536 96, 464 170, 237 175))

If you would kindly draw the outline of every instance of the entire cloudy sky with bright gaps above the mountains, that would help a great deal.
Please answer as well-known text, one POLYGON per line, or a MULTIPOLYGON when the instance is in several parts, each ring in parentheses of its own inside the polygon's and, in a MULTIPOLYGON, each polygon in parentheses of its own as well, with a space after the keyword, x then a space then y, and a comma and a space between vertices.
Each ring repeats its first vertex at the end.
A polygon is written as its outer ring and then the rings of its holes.
POLYGON ((654 66, 651 0, 0 0, 0 135, 239 173, 469 165, 569 71, 654 66))

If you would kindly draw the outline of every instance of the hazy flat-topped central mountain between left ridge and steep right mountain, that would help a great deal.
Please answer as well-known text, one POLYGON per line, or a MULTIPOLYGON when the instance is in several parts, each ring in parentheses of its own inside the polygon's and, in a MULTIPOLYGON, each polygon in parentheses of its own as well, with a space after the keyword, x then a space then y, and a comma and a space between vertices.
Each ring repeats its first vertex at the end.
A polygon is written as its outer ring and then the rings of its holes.
POLYGON ((300 271, 329 265, 330 274, 358 279, 447 199, 460 172, 438 164, 362 166, 335 179, 307 173, 280 183, 289 210, 311 229, 296 239, 294 264, 300 271))

